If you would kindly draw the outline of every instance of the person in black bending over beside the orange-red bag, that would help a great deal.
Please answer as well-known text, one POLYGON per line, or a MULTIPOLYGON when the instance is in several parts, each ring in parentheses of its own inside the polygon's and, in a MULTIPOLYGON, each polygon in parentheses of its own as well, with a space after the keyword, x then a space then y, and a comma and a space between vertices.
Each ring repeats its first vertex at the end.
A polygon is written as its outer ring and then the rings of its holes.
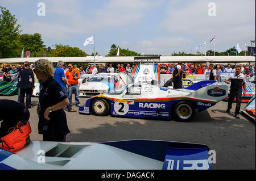
POLYGON ((15 127, 20 122, 30 119, 30 112, 27 108, 14 100, 0 100, 0 138, 8 134, 9 128, 15 127))

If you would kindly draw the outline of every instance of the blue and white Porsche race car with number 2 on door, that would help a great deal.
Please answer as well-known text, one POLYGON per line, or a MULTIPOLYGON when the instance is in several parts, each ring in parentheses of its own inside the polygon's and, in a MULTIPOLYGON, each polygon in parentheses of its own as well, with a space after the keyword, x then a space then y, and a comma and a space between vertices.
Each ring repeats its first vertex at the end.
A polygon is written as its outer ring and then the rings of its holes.
POLYGON ((190 121, 199 112, 214 106, 228 96, 228 86, 201 81, 186 89, 168 89, 132 83, 123 89, 93 96, 79 107, 79 113, 97 116, 125 116, 190 121))

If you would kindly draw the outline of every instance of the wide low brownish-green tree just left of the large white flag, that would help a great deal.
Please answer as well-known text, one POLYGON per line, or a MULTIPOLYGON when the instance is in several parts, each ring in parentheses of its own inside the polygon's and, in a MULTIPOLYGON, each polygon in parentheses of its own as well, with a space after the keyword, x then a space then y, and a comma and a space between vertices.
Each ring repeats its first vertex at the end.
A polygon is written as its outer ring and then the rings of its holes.
POLYGON ((83 50, 77 47, 69 47, 67 45, 55 45, 55 49, 52 50, 52 57, 86 57, 83 50))

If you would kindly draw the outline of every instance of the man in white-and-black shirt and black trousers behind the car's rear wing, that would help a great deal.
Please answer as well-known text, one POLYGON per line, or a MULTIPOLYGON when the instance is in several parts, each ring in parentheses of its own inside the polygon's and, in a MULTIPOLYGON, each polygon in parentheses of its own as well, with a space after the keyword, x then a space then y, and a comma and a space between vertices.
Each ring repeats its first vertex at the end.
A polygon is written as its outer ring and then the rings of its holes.
POLYGON ((243 95, 246 95, 246 80, 245 75, 241 73, 241 66, 236 66, 236 73, 230 74, 228 79, 225 80, 226 83, 230 84, 230 90, 229 90, 229 100, 228 100, 228 110, 226 110, 227 113, 230 112, 230 109, 232 108, 232 103, 234 98, 237 99, 237 106, 235 111, 235 117, 237 119, 240 119, 240 106, 242 101, 242 87, 243 87, 243 95))

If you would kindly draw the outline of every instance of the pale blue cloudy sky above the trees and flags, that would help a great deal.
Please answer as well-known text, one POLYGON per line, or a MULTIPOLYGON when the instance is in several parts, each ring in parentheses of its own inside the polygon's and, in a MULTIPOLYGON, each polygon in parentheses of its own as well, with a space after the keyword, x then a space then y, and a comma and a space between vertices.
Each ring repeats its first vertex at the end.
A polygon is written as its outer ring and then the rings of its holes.
POLYGON ((255 0, 0 0, 0 6, 15 15, 22 33, 40 33, 47 47, 63 44, 92 54, 93 45, 83 44, 94 35, 100 56, 112 44, 170 56, 195 54, 203 41, 213 50, 213 36, 218 52, 237 43, 243 50, 244 42, 255 40, 255 0))

